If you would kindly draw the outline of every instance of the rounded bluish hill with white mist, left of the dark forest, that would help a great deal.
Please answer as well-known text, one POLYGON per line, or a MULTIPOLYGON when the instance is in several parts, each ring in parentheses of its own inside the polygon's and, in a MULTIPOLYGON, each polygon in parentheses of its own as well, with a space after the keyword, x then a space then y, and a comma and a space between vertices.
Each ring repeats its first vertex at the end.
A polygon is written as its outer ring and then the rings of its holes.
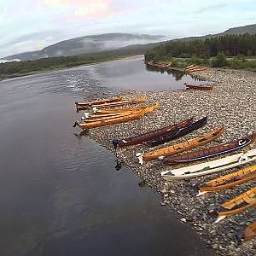
POLYGON ((90 54, 113 49, 123 48, 132 44, 148 44, 164 40, 165 36, 129 33, 108 33, 91 35, 82 38, 73 38, 49 45, 44 49, 25 52, 17 55, 9 55, 4 60, 21 61, 37 60, 47 57, 90 54))

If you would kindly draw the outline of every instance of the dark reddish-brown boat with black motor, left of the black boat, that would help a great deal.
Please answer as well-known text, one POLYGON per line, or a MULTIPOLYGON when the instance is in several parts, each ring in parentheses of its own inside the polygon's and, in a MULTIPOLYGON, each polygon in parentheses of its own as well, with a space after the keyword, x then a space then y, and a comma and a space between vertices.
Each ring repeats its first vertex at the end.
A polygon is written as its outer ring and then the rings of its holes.
POLYGON ((177 124, 169 125, 163 128, 160 128, 158 130, 154 131, 148 131, 143 134, 140 134, 138 136, 128 137, 125 139, 113 139, 113 147, 116 149, 119 147, 125 147, 125 146, 131 146, 131 145, 137 145, 141 143, 146 143, 148 140, 156 139, 158 137, 162 137, 166 134, 177 134, 179 129, 186 127, 190 125, 193 122, 193 118, 183 120, 177 124))

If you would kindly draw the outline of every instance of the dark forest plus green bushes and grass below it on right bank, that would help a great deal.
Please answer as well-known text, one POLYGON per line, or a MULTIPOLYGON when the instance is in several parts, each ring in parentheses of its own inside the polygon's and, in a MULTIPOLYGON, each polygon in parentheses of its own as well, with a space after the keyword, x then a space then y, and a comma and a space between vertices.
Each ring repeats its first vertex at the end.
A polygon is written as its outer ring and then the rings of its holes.
POLYGON ((256 71, 256 35, 225 35, 194 41, 171 41, 149 49, 146 61, 172 61, 173 67, 196 64, 256 71), (226 57, 228 56, 228 57, 226 57))

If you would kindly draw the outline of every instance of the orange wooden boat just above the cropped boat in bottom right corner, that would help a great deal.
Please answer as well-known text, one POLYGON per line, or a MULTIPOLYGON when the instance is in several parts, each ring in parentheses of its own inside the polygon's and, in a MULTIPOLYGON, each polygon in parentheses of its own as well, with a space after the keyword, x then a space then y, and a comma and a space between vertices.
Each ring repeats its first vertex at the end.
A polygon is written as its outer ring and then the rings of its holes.
POLYGON ((230 201, 226 201, 220 207, 218 207, 218 219, 215 223, 224 219, 227 216, 235 215, 238 212, 244 211, 247 208, 256 206, 256 187, 247 190, 245 193, 236 196, 230 201))

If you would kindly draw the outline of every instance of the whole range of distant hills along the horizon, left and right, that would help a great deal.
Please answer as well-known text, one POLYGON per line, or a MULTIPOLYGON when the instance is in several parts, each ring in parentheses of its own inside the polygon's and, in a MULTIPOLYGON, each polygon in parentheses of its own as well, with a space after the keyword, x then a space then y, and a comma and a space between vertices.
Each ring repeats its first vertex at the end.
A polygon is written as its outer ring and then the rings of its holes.
MULTIPOLYGON (((223 36, 226 34, 256 34, 256 24, 247 26, 238 26, 230 28, 218 34, 208 34, 201 37, 175 38, 168 41, 191 41, 195 39, 205 39, 223 36)), ((160 42, 165 41, 165 36, 154 36, 147 34, 129 34, 129 33, 108 33, 101 35, 92 35, 82 38, 73 38, 61 41, 57 44, 49 45, 42 50, 25 52, 18 55, 9 55, 4 60, 37 60, 41 58, 61 56, 61 55, 80 55, 113 50, 117 55, 135 55, 144 54, 148 49, 153 48, 160 42)), ((163 42, 164 43, 164 42, 163 42)), ((1 62, 1 59, 0 59, 1 62)))

